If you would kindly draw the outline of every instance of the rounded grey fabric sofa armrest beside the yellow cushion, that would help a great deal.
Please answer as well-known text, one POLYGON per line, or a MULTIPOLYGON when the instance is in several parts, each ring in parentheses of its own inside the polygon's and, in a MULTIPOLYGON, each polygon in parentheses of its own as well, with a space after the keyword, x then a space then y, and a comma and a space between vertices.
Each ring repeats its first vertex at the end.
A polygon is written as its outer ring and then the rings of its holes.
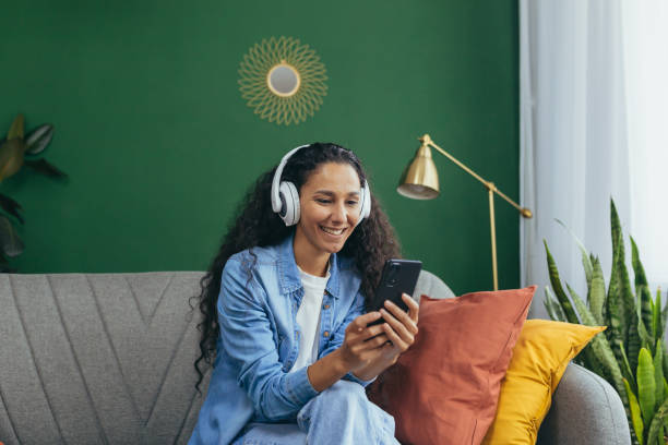
POLYGON ((617 392, 600 376, 569 363, 538 432, 539 445, 630 445, 617 392))

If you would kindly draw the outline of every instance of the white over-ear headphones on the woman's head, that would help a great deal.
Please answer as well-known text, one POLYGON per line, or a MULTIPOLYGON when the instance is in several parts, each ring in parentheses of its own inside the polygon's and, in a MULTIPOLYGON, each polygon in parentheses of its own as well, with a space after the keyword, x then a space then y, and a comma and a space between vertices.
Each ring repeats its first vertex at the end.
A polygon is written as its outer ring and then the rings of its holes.
MULTIPOLYGON (((272 209, 281 216, 281 219, 285 222, 286 226, 294 226, 299 221, 299 216, 301 215, 299 207, 299 192, 294 183, 289 181, 282 181, 281 175, 283 173, 283 168, 287 164, 290 156, 295 154, 295 152, 300 148, 308 147, 308 145, 300 145, 297 148, 293 148, 289 151, 283 159, 281 159, 281 164, 276 168, 276 172, 274 173, 274 179, 272 180, 272 209)), ((371 193, 369 192, 369 184, 365 180, 365 185, 361 190, 360 196, 360 211, 359 218, 357 219, 357 226, 361 222, 362 219, 369 216, 371 213, 371 193)))

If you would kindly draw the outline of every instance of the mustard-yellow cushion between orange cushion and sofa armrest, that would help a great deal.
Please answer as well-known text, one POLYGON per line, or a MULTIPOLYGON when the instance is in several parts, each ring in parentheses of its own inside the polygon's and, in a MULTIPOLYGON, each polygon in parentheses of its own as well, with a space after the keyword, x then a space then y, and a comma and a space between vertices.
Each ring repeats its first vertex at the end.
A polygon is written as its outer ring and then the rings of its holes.
POLYGON ((527 320, 501 382, 497 414, 482 444, 535 444, 569 362, 605 329, 605 326, 527 320))

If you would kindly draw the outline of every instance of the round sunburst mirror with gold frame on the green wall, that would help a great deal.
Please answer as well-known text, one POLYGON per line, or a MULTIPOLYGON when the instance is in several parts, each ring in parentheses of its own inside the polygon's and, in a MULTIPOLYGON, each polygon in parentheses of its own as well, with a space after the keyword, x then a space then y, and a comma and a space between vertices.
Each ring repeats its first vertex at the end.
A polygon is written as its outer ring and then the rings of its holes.
POLYGON ((260 118, 279 125, 312 117, 327 94, 326 80, 315 51, 293 37, 263 39, 239 67, 241 97, 260 118))

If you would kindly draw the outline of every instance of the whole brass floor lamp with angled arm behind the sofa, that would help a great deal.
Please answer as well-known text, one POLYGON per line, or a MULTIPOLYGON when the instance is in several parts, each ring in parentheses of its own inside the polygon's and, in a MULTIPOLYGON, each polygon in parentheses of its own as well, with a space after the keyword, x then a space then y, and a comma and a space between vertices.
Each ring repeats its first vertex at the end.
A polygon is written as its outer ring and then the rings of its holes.
POLYGON ((439 147, 437 144, 433 143, 431 137, 429 137, 429 134, 425 134, 422 137, 418 139, 421 143, 420 147, 416 152, 415 157, 413 158, 410 164, 408 164, 408 166, 404 170, 396 191, 399 194, 410 197, 413 200, 433 200, 439 195, 439 173, 437 172, 436 164, 433 164, 433 159, 431 157, 431 149, 429 148, 430 146, 438 149, 443 156, 455 163, 457 166, 462 167, 464 171, 480 181, 482 185, 485 185, 485 188, 487 189, 489 195, 489 225, 491 229, 492 244, 492 276, 494 280, 494 290, 499 290, 499 277, 497 273, 497 229, 494 226, 494 193, 508 201, 508 203, 515 207, 525 218, 530 218, 533 216, 532 211, 526 207, 520 207, 517 203, 501 193, 501 191, 497 189, 493 182, 486 181, 485 179, 480 178, 480 176, 478 176, 475 171, 466 167, 464 164, 460 163, 450 153, 439 147))

